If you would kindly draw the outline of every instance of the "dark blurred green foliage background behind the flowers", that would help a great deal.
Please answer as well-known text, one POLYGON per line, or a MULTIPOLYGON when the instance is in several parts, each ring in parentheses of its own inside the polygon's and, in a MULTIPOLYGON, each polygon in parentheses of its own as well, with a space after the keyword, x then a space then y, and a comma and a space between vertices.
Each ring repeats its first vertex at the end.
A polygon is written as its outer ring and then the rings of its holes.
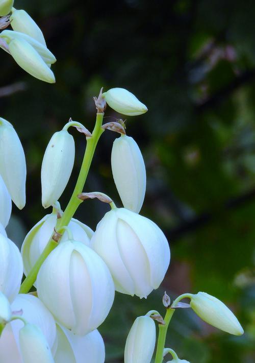
MULTIPOLYGON (((127 117, 147 169, 141 213, 165 232, 172 260, 147 300, 116 294, 100 327, 107 362, 122 362, 134 319, 162 314, 171 298, 205 291, 235 311, 245 334, 216 330, 189 309, 172 320, 167 346, 192 363, 255 361, 255 2, 230 0, 16 0, 43 30, 57 83, 33 79, 1 53, 1 117, 20 135, 28 166, 27 205, 13 207, 8 232, 17 244, 45 213, 40 167, 49 138, 69 117, 92 130, 92 96, 101 86, 129 89, 149 111, 127 117)), ((106 122, 121 117, 106 110, 106 122)), ((85 148, 75 133, 71 195, 85 148)), ((101 137, 85 191, 100 190, 121 206, 110 155, 117 134, 101 137)), ((76 214, 92 228, 107 206, 83 203, 76 214)), ((169 358, 170 359, 170 358, 169 358)))

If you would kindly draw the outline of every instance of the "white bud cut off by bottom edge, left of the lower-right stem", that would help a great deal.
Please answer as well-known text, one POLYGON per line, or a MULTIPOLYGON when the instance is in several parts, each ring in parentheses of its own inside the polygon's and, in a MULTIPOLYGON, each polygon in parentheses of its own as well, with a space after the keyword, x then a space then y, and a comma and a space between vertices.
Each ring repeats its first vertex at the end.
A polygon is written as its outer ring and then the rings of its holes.
POLYGON ((148 363, 152 358, 156 342, 154 321, 138 317, 126 338, 124 363, 148 363))

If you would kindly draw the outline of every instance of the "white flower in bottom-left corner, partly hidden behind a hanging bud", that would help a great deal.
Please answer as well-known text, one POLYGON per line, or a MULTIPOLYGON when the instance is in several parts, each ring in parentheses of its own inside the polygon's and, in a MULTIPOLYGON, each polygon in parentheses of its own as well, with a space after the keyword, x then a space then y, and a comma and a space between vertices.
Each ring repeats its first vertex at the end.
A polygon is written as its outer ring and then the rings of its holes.
MULTIPOLYGON (((22 313, 22 318, 24 318, 28 323, 35 324, 40 328, 46 338, 48 347, 52 349, 54 355, 56 351, 54 349, 54 342, 56 340, 56 323, 52 314, 50 314, 43 303, 33 295, 20 294, 13 301, 11 309, 16 312, 16 314, 22 313)), ((19 331, 22 329, 23 325, 24 323, 22 321, 14 320, 7 324, 4 328, 0 339, 1 363, 24 363, 20 354, 19 342, 19 331)), ((38 361, 41 362, 40 360, 38 361)))

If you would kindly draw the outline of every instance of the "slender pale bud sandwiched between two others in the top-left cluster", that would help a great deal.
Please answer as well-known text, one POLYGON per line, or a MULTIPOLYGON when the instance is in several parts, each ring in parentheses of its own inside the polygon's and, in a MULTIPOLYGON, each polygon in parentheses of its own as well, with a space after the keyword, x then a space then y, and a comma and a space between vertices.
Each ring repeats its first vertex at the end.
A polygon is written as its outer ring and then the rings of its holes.
POLYGON ((48 64, 48 66, 56 62, 55 56, 46 48, 46 46, 42 45, 42 43, 27 34, 15 32, 12 30, 4 30, 0 34, 0 37, 3 38, 8 44, 13 39, 23 39, 27 41, 30 45, 32 45, 35 51, 42 57, 42 59, 45 63, 48 64))

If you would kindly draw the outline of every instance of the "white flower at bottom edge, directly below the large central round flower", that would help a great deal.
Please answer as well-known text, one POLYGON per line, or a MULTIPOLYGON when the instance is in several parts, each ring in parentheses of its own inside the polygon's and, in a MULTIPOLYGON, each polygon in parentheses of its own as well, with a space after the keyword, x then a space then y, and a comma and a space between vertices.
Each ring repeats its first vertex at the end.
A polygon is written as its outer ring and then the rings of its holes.
POLYGON ((104 363, 105 344, 98 330, 80 336, 57 324, 55 363, 104 363))

